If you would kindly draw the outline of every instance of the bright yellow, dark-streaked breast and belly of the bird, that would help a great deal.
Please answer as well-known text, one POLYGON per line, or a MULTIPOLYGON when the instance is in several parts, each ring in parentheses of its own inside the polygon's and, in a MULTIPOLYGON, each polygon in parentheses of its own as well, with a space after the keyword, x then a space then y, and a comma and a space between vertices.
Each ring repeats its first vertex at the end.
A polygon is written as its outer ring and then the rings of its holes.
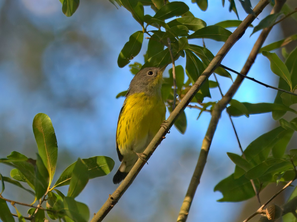
POLYGON ((117 146, 126 152, 143 152, 165 120, 166 107, 160 96, 135 93, 128 96, 117 128, 117 146))

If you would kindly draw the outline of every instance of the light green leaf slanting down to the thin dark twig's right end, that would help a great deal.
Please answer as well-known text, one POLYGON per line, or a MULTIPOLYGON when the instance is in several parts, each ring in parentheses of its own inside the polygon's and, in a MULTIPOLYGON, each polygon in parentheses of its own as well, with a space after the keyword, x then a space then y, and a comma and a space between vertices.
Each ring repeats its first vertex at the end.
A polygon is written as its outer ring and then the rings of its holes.
POLYGON ((271 71, 279 77, 283 78, 288 83, 292 91, 291 76, 285 63, 283 63, 282 60, 275 53, 263 51, 262 54, 269 59, 271 71))

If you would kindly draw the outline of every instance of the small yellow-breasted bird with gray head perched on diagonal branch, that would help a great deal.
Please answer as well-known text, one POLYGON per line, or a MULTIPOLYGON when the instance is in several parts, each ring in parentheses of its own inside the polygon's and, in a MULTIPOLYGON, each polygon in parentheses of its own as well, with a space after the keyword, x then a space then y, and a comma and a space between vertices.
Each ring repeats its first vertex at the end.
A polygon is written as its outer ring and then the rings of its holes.
MULTIPOLYGON (((161 95, 165 67, 146 67, 131 80, 116 130, 116 150, 121 165, 113 177, 120 183, 165 120, 166 106, 161 95)), ((143 159, 144 160, 144 159, 143 159)))

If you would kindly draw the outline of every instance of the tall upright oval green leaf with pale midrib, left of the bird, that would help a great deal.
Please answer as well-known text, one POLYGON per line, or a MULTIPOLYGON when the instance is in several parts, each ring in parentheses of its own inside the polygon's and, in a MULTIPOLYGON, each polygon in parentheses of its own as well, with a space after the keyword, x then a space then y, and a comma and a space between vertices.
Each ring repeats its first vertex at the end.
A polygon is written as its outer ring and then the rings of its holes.
POLYGON ((51 184, 56 171, 58 145, 55 130, 48 115, 38 113, 34 117, 33 132, 38 147, 38 153, 43 164, 48 169, 48 175, 50 177, 49 184, 51 184))

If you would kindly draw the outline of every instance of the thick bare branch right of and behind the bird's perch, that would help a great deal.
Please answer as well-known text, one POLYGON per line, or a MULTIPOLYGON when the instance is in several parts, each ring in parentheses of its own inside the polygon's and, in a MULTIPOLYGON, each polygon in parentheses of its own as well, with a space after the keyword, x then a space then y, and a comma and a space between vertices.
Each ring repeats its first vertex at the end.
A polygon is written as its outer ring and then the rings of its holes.
MULTIPOLYGON (((257 6, 254 8, 255 16, 259 15, 259 13, 264 9, 264 7, 269 3, 269 1, 260 1, 257 6), (259 11, 258 11, 259 10, 259 11)), ((249 14, 248 16, 252 16, 249 14)), ((246 18, 247 19, 247 18, 246 18)), ((241 23, 243 24, 246 22, 246 19, 241 23)), ((250 23, 245 23, 244 25, 249 25, 250 23)), ((240 26, 238 26, 239 28, 240 26)), ((236 29, 237 30, 237 29, 236 29)), ((235 30, 235 31, 236 31, 235 30)), ((255 62, 255 58, 257 57, 257 53, 259 52, 259 49, 263 45, 263 42, 265 41, 268 33, 270 32, 271 28, 265 28, 262 30, 259 38, 255 42, 255 45, 252 48, 252 51, 249 54, 249 57, 244 64, 244 67, 241 70, 241 73, 247 74, 252 64, 255 62)), ((233 32, 233 34, 235 33, 233 32)), ((211 62, 212 63, 212 62, 211 62)), ((193 176, 191 178, 191 182, 189 184, 186 196, 184 198, 184 202, 181 206, 181 210, 179 212, 177 221, 178 222, 184 222, 187 220, 187 216, 189 214, 189 209, 192 203, 192 200, 194 198, 195 192, 197 190, 197 187, 200 183, 200 178, 203 173, 203 169, 206 164, 206 159, 208 156, 209 148, 211 145, 211 141, 214 136, 214 132, 216 131, 217 124, 219 122, 220 116, 222 114, 222 111, 227 107, 228 103, 236 93, 237 89, 241 85, 241 82, 244 80, 242 76, 238 76, 236 80, 234 81, 233 85, 230 87, 230 89, 227 91, 227 93, 222 97, 222 99, 214 105, 213 111, 211 113, 211 120, 208 125, 208 129, 206 131, 206 135, 202 141, 201 145, 201 151, 199 154, 198 162, 195 167, 193 176)))

